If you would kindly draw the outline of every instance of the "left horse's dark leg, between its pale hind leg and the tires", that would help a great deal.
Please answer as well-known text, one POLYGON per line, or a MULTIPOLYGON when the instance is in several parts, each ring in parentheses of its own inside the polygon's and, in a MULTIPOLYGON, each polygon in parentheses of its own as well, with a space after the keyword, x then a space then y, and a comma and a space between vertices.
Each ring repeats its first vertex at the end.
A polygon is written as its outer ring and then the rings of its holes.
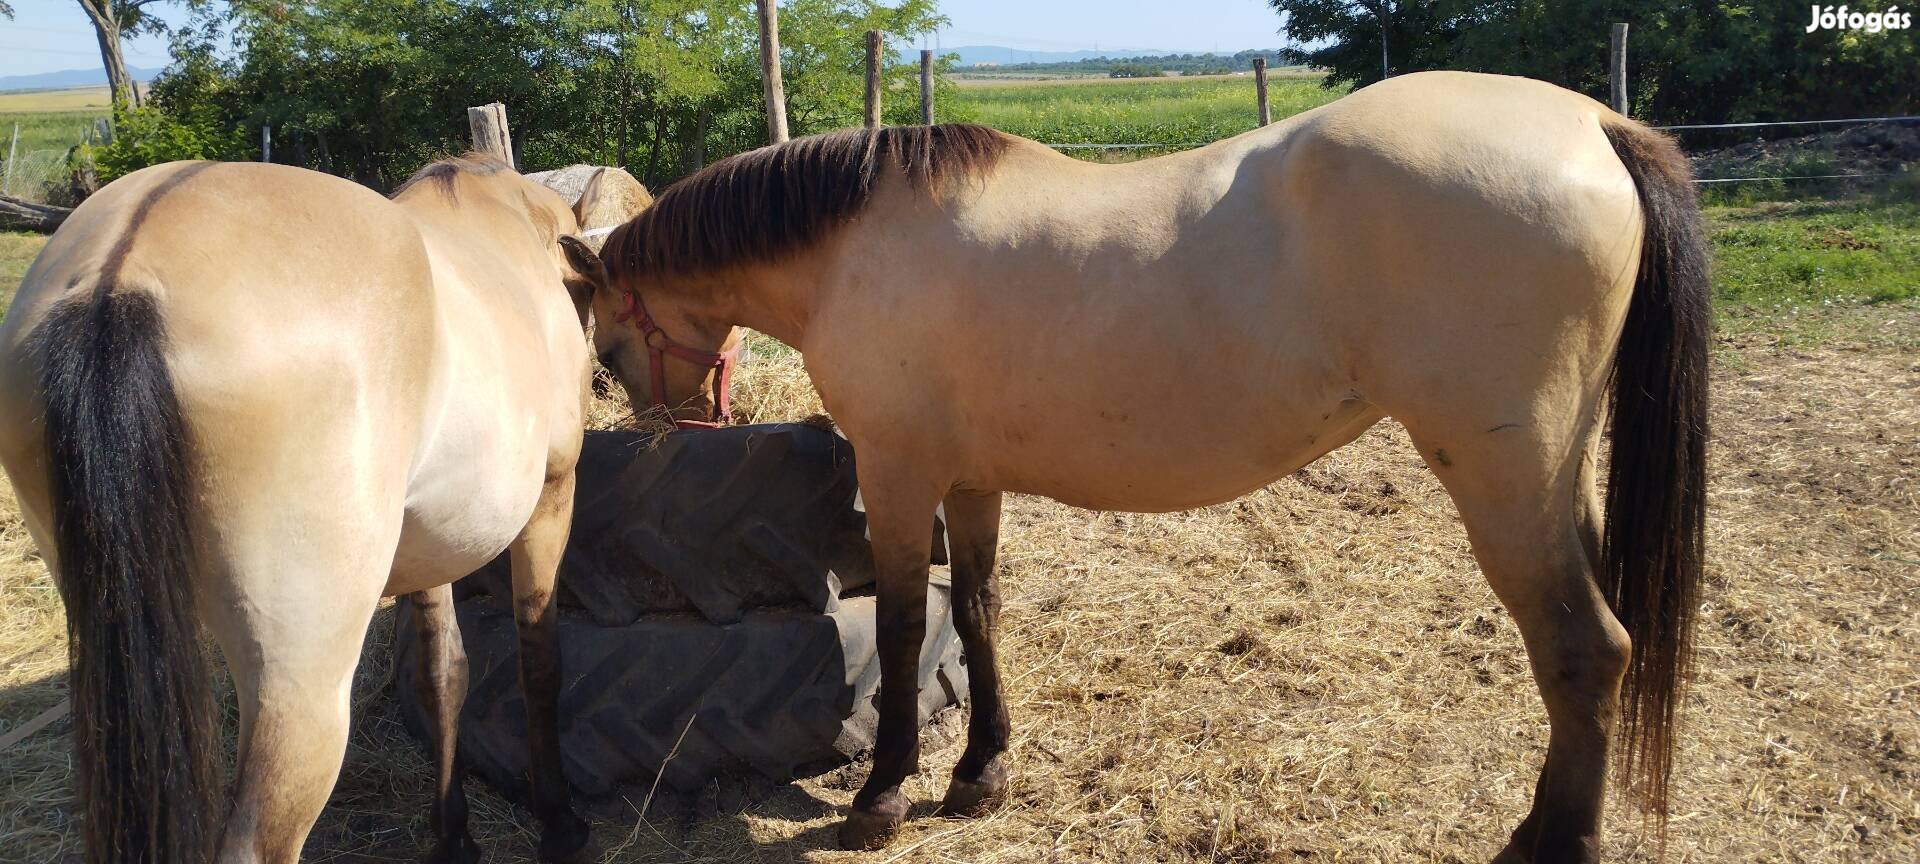
POLYGON ((430 588, 413 597, 420 636, 420 664, 415 687, 434 732, 434 851, 432 864, 470 864, 480 847, 467 833, 467 768, 459 760, 461 705, 467 701, 467 649, 453 614, 453 586, 430 588))

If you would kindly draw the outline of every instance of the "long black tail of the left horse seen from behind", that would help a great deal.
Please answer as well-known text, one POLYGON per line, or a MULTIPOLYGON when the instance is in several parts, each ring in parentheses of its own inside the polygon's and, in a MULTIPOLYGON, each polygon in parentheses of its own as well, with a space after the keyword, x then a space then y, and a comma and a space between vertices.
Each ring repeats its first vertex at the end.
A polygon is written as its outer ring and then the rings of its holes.
POLYGON ((202 864, 221 772, 165 323, 150 294, 104 284, 35 342, 86 860, 202 864))

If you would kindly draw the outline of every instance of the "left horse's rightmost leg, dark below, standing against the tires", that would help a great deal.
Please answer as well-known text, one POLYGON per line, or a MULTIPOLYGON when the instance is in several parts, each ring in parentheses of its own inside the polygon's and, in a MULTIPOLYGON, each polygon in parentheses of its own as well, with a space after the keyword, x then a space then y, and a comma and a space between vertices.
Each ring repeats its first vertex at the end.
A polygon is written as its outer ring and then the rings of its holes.
POLYGON ((528 781, 540 818, 540 860, 591 858, 591 833, 574 812, 561 770, 561 649, 553 586, 574 516, 574 472, 547 480, 526 530, 509 547, 513 559, 513 622, 520 636, 520 689, 526 693, 528 781))

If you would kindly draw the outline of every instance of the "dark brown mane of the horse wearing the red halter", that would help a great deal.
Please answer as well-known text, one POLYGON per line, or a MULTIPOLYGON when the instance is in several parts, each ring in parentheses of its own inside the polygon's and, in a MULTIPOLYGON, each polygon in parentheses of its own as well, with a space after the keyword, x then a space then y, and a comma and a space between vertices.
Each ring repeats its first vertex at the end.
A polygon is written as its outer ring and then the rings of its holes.
POLYGON ((935 190, 991 171, 1012 142, 987 127, 945 123, 849 129, 732 156, 614 228, 603 252, 607 276, 778 261, 860 215, 883 175, 935 190))

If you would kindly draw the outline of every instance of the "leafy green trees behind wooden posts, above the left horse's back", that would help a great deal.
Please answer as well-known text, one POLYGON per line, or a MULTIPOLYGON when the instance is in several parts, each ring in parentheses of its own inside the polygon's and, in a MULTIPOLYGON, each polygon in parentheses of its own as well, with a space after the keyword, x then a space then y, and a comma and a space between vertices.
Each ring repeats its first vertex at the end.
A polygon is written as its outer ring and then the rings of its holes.
MULTIPOLYGON (((230 157, 273 127, 273 157, 392 188, 467 142, 467 106, 505 102, 524 169, 630 165, 647 184, 766 144, 747 0, 188 0, 154 81, 167 123, 142 154, 230 157)), ((793 132, 858 125, 862 33, 912 40, 933 0, 789 0, 793 132)), ((918 67, 893 65, 906 83, 918 67)), ((914 111, 908 100, 893 109, 914 111)), ((902 117, 889 111, 889 117, 902 117)), ((908 119, 910 121, 910 119, 908 119)), ((175 156, 177 157, 177 156, 175 156)))

